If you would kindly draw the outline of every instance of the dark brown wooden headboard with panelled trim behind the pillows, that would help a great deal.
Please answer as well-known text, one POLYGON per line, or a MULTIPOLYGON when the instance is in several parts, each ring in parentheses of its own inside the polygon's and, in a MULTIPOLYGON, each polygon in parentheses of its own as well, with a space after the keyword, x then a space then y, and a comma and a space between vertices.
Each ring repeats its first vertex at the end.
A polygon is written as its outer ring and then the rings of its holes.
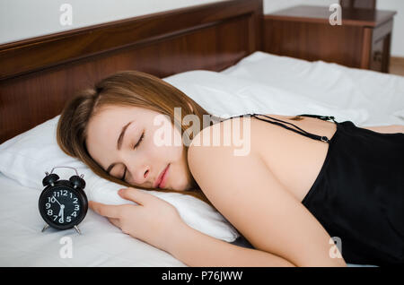
POLYGON ((231 0, 0 46, 0 143, 62 111, 110 73, 219 72, 260 50, 262 0, 231 0))

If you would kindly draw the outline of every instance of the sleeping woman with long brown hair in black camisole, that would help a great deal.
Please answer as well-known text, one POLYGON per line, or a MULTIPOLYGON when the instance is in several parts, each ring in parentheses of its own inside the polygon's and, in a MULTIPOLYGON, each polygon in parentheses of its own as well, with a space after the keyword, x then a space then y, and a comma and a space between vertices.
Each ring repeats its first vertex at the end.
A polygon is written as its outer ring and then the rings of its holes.
POLYGON ((90 202, 94 212, 189 266, 404 263, 404 125, 245 114, 202 126, 206 116, 171 84, 123 71, 66 104, 57 143, 138 204, 90 202), (188 115, 199 119, 197 132, 188 115), (224 143, 235 134, 250 143, 242 155, 224 143), (180 143, 158 143, 172 137, 180 143), (170 203, 138 189, 209 203, 251 246, 192 229, 170 203))

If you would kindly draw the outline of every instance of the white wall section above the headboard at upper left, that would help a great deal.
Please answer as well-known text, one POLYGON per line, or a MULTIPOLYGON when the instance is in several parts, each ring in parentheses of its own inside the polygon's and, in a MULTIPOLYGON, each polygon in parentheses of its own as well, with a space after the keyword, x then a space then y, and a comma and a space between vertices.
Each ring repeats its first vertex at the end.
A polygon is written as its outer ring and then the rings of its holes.
POLYGON ((224 0, 0 0, 0 44, 219 1, 224 0), (62 4, 72 5, 71 26, 59 22, 62 4))

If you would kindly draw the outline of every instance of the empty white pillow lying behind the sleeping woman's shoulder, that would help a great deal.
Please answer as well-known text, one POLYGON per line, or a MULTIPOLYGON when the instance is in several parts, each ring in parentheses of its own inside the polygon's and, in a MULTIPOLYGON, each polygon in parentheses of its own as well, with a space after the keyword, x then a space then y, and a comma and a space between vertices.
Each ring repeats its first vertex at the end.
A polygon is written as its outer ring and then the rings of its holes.
POLYGON ((302 96, 294 91, 224 73, 193 70, 163 80, 219 117, 248 113, 286 116, 314 114, 334 116, 337 122, 350 120, 356 125, 369 117, 364 108, 338 108, 321 98, 302 96))

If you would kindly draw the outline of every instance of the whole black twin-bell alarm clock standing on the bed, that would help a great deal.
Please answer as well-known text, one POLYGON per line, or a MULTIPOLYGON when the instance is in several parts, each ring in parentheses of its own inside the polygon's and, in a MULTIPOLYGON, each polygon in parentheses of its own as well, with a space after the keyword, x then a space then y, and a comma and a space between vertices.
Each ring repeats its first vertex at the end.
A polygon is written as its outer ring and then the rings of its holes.
MULTIPOLYGON (((70 168, 70 167, 56 167, 70 168)), ((81 234, 78 224, 84 219, 88 210, 87 196, 83 189, 85 181, 83 174, 78 175, 75 168, 75 176, 69 180, 59 180, 57 174, 45 172, 46 177, 42 180, 45 186, 40 194, 39 208, 42 219, 47 223, 42 229, 52 227, 54 229, 71 229, 81 234)))

